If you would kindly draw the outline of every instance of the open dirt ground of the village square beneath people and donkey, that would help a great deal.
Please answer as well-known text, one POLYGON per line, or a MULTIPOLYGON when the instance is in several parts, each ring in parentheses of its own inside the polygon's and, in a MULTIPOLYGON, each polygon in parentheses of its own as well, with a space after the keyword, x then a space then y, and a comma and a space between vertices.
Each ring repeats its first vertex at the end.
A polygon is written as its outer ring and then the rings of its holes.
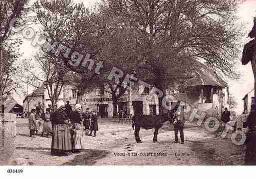
POLYGON ((16 122, 16 158, 30 165, 243 165, 246 146, 232 143, 229 134, 210 133, 186 122, 185 144, 175 144, 174 128, 169 122, 159 130, 153 143, 153 130, 141 130, 143 143, 137 144, 130 122, 100 119, 96 137, 84 136, 85 149, 66 157, 50 155, 49 138, 28 136, 28 119, 16 122), (154 154, 155 153, 155 154, 154 154), (159 156, 159 154, 161 155, 159 156))

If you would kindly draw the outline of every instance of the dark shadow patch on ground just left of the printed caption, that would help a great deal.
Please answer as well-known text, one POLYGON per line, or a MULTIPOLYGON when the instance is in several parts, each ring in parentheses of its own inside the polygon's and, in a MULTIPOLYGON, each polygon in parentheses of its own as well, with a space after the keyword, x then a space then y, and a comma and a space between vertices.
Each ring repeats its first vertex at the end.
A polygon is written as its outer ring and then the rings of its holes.
POLYGON ((97 160, 105 158, 109 154, 108 151, 84 149, 81 155, 75 156, 72 161, 64 163, 65 166, 74 165, 94 165, 97 160))

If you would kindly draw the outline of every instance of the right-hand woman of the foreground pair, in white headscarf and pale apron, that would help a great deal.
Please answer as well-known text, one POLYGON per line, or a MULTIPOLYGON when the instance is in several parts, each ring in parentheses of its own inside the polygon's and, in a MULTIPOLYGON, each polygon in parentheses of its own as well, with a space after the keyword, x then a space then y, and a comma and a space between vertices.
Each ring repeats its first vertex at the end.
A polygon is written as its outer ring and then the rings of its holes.
POLYGON ((80 153, 84 149, 83 125, 81 118, 81 105, 76 104, 74 111, 71 112, 72 131, 72 153, 80 153))

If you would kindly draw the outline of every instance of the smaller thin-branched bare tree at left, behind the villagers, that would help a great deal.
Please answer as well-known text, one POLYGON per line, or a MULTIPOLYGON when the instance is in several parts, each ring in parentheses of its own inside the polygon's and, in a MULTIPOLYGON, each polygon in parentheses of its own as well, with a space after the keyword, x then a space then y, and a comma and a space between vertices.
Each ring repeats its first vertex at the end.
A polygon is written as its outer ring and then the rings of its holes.
POLYGON ((22 60, 20 80, 35 88, 47 90, 52 105, 56 104, 65 83, 69 81, 68 68, 46 53, 37 53, 33 59, 22 60), (26 81, 23 75, 30 75, 26 81), (42 85, 44 84, 44 85, 42 85))

